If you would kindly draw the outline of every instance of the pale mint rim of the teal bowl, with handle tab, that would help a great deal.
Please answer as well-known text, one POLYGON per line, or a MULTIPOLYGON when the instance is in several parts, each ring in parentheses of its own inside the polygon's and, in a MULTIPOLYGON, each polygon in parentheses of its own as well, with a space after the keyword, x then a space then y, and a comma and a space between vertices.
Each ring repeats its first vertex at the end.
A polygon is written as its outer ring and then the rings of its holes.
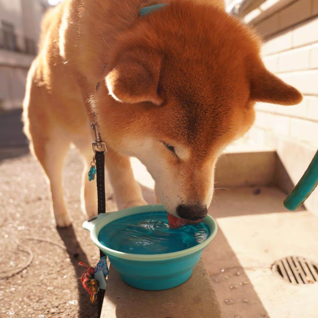
POLYGON ((192 246, 190 248, 177 251, 177 252, 151 254, 151 255, 132 254, 132 253, 116 251, 105 245, 102 245, 100 241, 98 240, 98 233, 108 223, 114 220, 123 218, 125 216, 140 214, 140 213, 145 213, 150 211, 166 212, 162 204, 148 204, 148 205, 136 206, 136 207, 127 208, 127 209, 123 209, 119 211, 101 213, 101 214, 98 214, 97 216, 93 216, 83 223, 83 228, 90 232, 90 237, 92 241, 107 256, 114 256, 121 259, 135 260, 135 261, 164 261, 164 260, 177 259, 183 256, 193 254, 195 252, 198 252, 204 249, 204 247, 208 245, 211 242, 211 240, 215 237, 218 231, 218 225, 216 221, 210 215, 207 215, 206 217, 203 218, 203 221, 206 225, 208 225, 210 230, 210 235, 202 243, 199 243, 195 246, 192 246))

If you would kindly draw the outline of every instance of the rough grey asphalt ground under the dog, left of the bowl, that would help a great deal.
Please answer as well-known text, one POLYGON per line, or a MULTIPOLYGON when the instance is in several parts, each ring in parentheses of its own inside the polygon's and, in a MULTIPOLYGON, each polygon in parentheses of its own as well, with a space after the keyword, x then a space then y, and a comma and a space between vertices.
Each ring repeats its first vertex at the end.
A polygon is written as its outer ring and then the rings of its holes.
MULTIPOLYGON (((0 280, 0 317, 97 317, 79 278, 84 267, 94 265, 99 251, 81 227, 82 163, 70 151, 64 173, 67 207, 73 226, 57 229, 50 215, 44 174, 29 154, 22 134, 20 111, 0 114, 0 277, 30 266, 0 280), (66 247, 65 247, 66 246, 66 247)), ((115 209, 111 189, 107 208, 115 209)))

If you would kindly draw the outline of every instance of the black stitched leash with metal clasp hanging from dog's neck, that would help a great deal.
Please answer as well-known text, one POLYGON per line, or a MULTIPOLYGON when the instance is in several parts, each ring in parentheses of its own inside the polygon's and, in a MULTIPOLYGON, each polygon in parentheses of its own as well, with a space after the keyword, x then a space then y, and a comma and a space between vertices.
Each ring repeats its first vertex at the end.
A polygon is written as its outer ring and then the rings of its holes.
MULTIPOLYGON (((97 183, 97 204, 98 204, 98 214, 106 212, 105 205, 105 153, 107 151, 107 146, 100 138, 96 123, 96 115, 94 114, 94 122, 91 127, 95 132, 95 142, 93 142, 93 151, 95 153, 92 163, 96 160, 96 183, 97 183)), ((100 258, 106 256, 103 251, 100 250, 100 258)), ((103 300, 105 295, 105 289, 100 289, 97 296, 98 302, 98 317, 101 314, 101 308, 103 306, 103 300)))

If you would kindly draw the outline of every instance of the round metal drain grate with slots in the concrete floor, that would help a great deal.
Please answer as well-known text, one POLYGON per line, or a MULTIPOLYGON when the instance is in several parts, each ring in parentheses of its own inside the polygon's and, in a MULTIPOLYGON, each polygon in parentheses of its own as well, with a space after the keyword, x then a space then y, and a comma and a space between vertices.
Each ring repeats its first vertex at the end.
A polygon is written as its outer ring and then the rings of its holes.
POLYGON ((287 256, 274 262, 274 273, 292 284, 313 284, 318 281, 318 265, 301 256, 287 256))

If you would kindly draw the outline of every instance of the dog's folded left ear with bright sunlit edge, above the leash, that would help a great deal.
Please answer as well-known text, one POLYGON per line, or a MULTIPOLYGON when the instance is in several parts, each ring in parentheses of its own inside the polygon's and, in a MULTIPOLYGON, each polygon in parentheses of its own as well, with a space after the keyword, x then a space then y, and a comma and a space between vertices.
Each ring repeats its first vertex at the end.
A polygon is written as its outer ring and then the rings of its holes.
POLYGON ((161 105, 158 95, 161 57, 142 49, 121 54, 107 74, 105 82, 108 92, 115 100, 125 103, 149 101, 161 105))

